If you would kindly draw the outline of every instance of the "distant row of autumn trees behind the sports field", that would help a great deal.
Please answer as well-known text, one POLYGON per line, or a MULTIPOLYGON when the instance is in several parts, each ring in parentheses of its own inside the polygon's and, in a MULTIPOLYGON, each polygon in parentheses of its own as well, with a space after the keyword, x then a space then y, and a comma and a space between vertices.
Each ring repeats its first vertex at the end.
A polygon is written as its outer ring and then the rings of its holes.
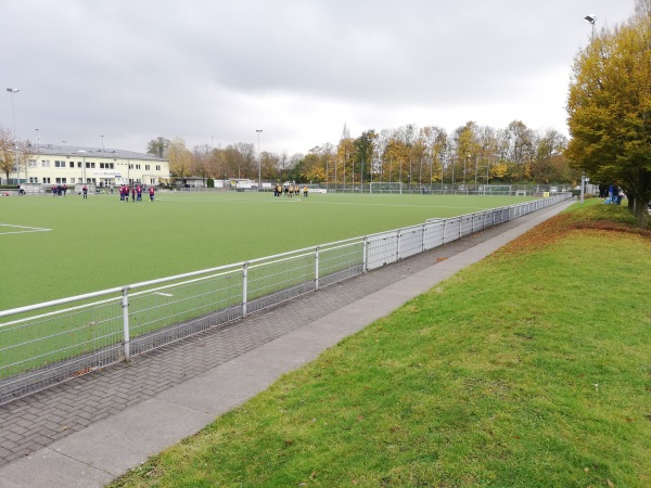
POLYGON ((575 184, 580 174, 563 153, 567 138, 554 129, 536 131, 514 120, 505 129, 474 121, 447 133, 436 126, 406 125, 352 137, 344 125, 336 144, 307 154, 257 154, 253 143, 226 147, 187 147, 182 139, 163 137, 148 153, 169 160, 174 178, 250 178, 295 180, 356 188, 369 182, 412 185, 536 182, 575 184), (259 158, 259 159, 258 159, 259 158), (258 168, 259 160, 259 168, 258 168))

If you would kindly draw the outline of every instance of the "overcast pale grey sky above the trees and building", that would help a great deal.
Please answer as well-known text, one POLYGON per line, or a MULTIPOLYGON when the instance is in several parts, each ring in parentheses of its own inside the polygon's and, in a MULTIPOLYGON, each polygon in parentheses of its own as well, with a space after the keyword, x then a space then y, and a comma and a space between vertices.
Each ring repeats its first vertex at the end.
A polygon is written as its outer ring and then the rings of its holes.
MULTIPOLYGON (((368 129, 468 120, 566 133, 570 66, 634 0, 0 0, 18 138, 145 152, 307 153, 368 129), (212 136, 212 138, 210 138, 212 136)), ((12 94, 0 125, 13 131, 12 94)))

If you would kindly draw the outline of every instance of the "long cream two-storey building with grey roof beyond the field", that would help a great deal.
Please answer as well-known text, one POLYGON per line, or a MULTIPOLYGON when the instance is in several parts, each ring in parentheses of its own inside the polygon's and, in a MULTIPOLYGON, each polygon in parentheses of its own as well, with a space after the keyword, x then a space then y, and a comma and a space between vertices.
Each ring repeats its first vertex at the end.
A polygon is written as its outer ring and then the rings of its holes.
MULTIPOLYGON (((85 183, 102 188, 169 182, 169 162, 151 154, 54 144, 33 145, 30 152, 20 168, 21 183, 85 183)), ((4 184, 17 184, 18 171, 15 169, 4 184)))

